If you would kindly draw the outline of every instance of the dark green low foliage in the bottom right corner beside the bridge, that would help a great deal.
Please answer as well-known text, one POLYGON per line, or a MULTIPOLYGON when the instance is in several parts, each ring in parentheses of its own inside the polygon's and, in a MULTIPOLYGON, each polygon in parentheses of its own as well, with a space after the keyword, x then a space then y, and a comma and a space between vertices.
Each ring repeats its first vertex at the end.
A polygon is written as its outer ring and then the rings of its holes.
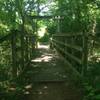
POLYGON ((84 100, 100 99, 100 62, 90 62, 87 71, 87 82, 84 83, 85 97, 84 100))

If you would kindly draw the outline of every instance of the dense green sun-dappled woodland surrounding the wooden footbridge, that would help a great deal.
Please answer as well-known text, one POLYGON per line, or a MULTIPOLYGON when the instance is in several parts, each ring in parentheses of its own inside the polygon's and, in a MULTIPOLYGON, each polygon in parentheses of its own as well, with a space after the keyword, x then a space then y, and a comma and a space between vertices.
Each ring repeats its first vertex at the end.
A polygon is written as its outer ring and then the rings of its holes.
MULTIPOLYGON (((58 32, 58 25, 62 34, 85 33, 88 36, 84 100, 100 100, 100 0, 0 0, 0 39, 17 30, 20 34, 34 35, 36 40, 48 42, 52 34, 58 32), (62 19, 31 18, 39 15, 59 15, 62 19), (46 34, 39 37, 37 31, 45 26, 46 34)), ((18 39, 17 45, 20 45, 18 39)), ((1 93, 9 93, 10 84, 14 82, 10 46, 9 41, 0 43, 1 93)), ((17 56, 21 59, 20 53, 17 56)), ((21 91, 19 84, 17 91, 21 91)))

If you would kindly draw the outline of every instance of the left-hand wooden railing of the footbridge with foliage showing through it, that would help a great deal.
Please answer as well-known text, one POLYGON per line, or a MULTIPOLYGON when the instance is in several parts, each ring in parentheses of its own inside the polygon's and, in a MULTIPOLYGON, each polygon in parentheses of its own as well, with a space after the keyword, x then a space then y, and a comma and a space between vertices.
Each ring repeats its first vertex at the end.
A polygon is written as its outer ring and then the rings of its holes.
POLYGON ((10 66, 11 76, 16 78, 28 66, 34 48, 35 36, 25 34, 22 37, 20 31, 14 30, 12 33, 0 38, 0 64, 5 65, 5 67, 6 65, 10 66), (6 54, 9 59, 6 56, 4 57, 6 54))

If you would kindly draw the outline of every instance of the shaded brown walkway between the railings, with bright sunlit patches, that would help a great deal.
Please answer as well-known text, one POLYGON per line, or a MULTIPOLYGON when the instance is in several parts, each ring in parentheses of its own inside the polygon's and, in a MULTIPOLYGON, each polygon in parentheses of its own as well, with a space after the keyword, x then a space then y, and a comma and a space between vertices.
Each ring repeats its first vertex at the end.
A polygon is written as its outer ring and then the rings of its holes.
POLYGON ((24 100, 82 100, 83 91, 74 83, 72 72, 63 59, 48 46, 35 51, 30 70, 26 73, 24 100), (70 72, 69 72, 70 71, 70 72))

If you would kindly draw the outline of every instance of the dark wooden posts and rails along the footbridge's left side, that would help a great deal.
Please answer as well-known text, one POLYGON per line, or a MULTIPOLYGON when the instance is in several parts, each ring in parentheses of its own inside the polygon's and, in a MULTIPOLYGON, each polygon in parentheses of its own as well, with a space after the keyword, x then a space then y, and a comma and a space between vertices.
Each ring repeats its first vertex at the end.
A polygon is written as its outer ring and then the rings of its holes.
POLYGON ((5 35, 0 38, 1 47, 5 46, 5 44, 3 44, 3 42, 9 41, 9 45, 10 45, 9 48, 11 48, 10 54, 11 54, 11 58, 12 58, 12 75, 14 78, 18 77, 21 74, 21 72, 23 72, 23 70, 25 69, 27 64, 29 63, 32 53, 33 53, 31 49, 33 48, 34 43, 32 43, 32 42, 35 42, 35 40, 32 41, 30 39, 33 37, 32 35, 25 34, 24 35, 25 38, 24 38, 24 37, 22 37, 21 34, 19 34, 19 32, 20 31, 15 31, 15 33, 14 32, 9 33, 8 35, 5 35), (22 46, 22 41, 24 41, 24 44, 23 44, 24 46, 22 46), (21 55, 22 52, 24 52, 23 57, 21 55), (24 63, 23 64, 24 66, 22 65, 22 63, 24 63), (20 71, 18 71, 19 70, 18 67, 20 67, 20 71), (20 73, 18 74, 17 71, 20 73))

